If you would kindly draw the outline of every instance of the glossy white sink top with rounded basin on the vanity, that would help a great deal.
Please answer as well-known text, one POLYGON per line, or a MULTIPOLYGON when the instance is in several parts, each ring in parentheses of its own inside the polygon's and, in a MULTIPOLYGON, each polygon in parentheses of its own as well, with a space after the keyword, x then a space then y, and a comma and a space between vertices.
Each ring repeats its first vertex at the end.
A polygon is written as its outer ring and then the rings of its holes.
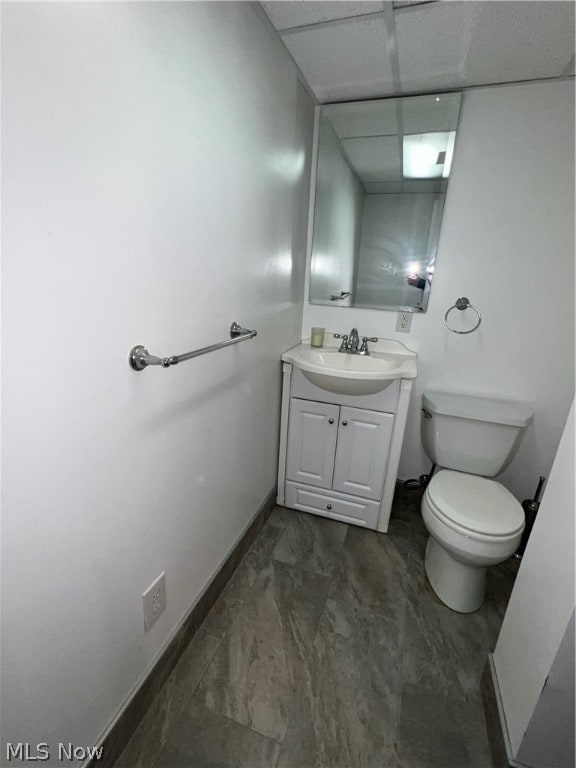
POLYGON ((282 360, 299 368, 311 384, 342 395, 373 395, 395 379, 416 378, 417 355, 399 341, 379 339, 370 346, 370 355, 338 349, 330 334, 325 346, 311 347, 304 341, 284 352, 282 360))

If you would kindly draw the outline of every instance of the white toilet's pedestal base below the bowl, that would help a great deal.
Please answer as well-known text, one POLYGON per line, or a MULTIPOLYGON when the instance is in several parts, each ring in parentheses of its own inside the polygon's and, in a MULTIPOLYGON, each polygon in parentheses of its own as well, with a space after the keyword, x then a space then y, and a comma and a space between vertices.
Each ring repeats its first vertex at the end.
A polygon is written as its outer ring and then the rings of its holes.
POLYGON ((486 566, 465 565, 428 537, 424 567, 440 600, 459 613, 477 611, 484 602, 486 566))

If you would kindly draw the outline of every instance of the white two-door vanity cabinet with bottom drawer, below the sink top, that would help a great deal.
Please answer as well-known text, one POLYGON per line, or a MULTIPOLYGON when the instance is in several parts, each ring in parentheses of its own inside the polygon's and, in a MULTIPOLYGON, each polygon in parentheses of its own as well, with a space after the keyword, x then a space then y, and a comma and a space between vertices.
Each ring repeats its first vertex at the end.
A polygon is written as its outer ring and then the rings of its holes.
POLYGON ((385 532, 412 382, 352 396, 283 373, 278 503, 385 532))

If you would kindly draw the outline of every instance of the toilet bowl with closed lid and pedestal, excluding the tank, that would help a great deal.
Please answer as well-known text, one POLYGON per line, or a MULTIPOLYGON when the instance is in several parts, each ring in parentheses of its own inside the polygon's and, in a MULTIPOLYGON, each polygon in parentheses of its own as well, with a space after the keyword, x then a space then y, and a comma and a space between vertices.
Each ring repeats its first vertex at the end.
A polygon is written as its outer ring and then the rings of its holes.
POLYGON ((422 499, 430 538, 425 569, 430 585, 452 610, 476 611, 484 602, 488 566, 518 549, 522 506, 493 480, 442 469, 422 499))

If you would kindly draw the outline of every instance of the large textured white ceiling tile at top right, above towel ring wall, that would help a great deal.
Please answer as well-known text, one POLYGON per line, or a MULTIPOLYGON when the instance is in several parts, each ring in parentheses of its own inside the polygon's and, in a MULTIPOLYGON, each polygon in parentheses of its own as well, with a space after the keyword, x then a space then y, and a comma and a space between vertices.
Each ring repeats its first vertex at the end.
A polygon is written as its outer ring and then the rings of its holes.
POLYGON ((574 3, 444 2, 395 13, 403 92, 560 76, 574 3))

